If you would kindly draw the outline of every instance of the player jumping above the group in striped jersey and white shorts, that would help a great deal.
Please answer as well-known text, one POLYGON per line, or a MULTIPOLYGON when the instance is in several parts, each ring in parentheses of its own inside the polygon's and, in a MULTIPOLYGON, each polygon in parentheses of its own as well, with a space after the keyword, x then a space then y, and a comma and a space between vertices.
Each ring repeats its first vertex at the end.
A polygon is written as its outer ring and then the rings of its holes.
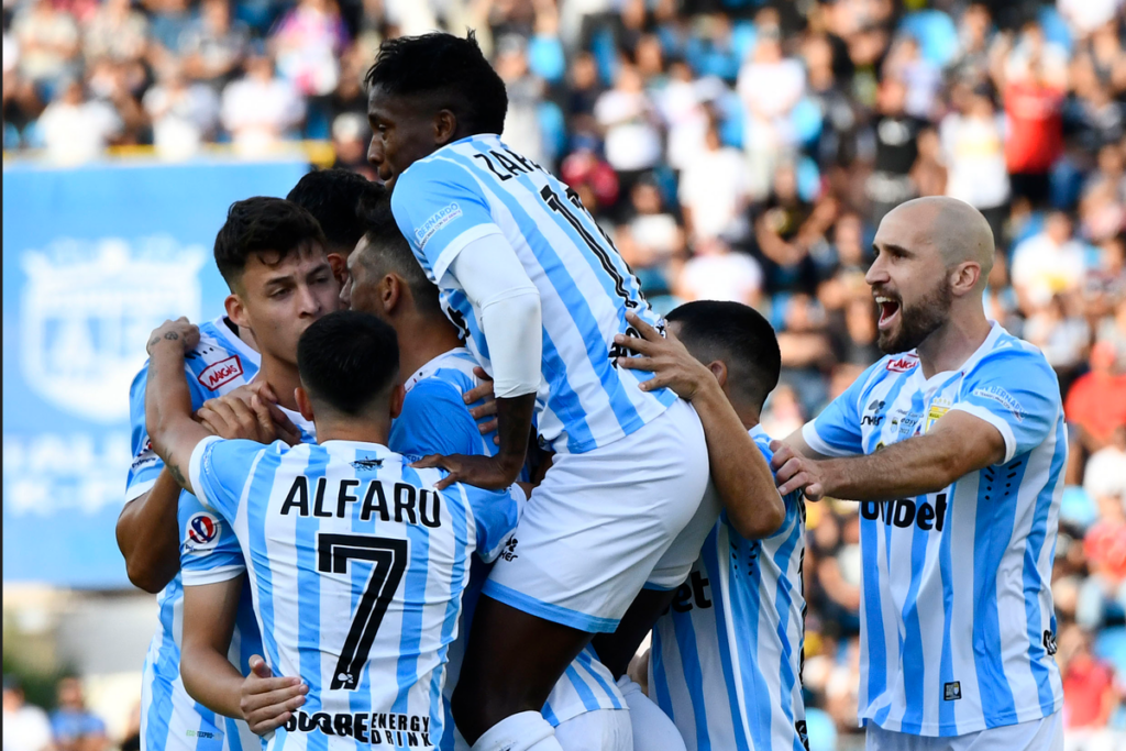
MULTIPOLYGON (((697 511, 703 431, 674 394, 615 367, 626 312, 658 316, 573 191, 500 141, 503 82, 472 36, 395 39, 367 80, 368 159, 497 393, 494 457, 420 466, 504 486, 524 466, 534 413, 540 445, 556 453, 517 554, 485 584, 454 714, 477 751, 557 750, 538 709, 591 634, 617 628, 697 511)), ((754 466, 770 486, 769 467, 754 466)))

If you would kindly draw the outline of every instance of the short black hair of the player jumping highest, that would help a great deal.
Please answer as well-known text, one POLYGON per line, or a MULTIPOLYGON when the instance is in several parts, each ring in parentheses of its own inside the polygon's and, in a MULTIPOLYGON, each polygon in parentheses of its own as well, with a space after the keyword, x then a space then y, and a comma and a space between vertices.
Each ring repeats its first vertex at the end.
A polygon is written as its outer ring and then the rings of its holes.
POLYGON ((432 97, 435 109, 448 109, 470 134, 504 129, 508 92, 477 45, 473 32, 463 39, 432 32, 386 39, 364 81, 396 97, 432 97))

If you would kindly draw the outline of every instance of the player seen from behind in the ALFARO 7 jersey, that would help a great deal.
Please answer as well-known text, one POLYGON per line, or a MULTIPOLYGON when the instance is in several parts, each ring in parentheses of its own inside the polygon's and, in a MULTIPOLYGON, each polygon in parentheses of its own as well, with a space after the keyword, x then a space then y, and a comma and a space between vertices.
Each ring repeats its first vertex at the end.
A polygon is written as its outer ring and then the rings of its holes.
POLYGON ((294 448, 223 440, 191 420, 175 375, 195 336, 175 322, 150 341, 146 418, 173 475, 239 538, 270 669, 309 686, 269 748, 333 748, 325 736, 435 748, 468 556, 501 551, 513 499, 439 492, 441 471, 386 448, 403 391, 394 331, 378 319, 333 313, 302 334, 297 401, 320 442, 294 448))

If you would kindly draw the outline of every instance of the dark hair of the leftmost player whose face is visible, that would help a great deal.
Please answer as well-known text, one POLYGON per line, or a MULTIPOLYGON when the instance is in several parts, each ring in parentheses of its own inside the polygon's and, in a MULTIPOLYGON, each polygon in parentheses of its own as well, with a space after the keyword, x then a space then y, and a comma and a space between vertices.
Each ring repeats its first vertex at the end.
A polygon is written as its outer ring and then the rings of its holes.
POLYGON ((226 222, 215 235, 215 265, 233 290, 251 253, 278 253, 280 262, 306 242, 327 245, 312 214, 284 198, 254 196, 227 209, 226 222))

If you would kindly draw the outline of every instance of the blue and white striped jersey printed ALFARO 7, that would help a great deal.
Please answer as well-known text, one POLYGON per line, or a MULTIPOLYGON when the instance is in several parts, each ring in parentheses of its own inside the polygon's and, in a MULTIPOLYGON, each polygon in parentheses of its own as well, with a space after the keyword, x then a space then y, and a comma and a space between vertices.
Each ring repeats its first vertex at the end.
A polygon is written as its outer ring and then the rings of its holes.
POLYGON ((310 687, 269 749, 437 746, 470 555, 499 555, 517 521, 506 492, 435 491, 445 474, 346 440, 193 452, 193 488, 242 547, 266 660, 310 687))

